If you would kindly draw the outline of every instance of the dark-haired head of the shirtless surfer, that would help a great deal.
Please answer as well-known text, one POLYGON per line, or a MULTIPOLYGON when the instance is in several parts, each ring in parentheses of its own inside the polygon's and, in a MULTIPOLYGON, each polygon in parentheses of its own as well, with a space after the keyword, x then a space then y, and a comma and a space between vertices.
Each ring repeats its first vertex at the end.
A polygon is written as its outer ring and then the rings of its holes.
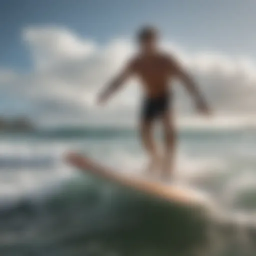
POLYGON ((158 31, 153 26, 142 27, 137 34, 137 41, 143 51, 153 51, 156 48, 158 31))

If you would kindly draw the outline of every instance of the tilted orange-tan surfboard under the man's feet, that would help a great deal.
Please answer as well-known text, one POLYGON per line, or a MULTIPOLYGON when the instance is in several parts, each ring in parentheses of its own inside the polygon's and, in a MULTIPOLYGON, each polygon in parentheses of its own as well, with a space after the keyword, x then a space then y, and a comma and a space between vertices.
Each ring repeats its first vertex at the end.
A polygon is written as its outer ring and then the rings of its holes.
POLYGON ((80 153, 69 152, 65 155, 65 160, 83 172, 90 173, 111 182, 116 182, 125 187, 136 189, 153 197, 165 199, 170 202, 192 205, 201 204, 202 202, 201 198, 189 190, 118 173, 118 171, 104 166, 80 153))

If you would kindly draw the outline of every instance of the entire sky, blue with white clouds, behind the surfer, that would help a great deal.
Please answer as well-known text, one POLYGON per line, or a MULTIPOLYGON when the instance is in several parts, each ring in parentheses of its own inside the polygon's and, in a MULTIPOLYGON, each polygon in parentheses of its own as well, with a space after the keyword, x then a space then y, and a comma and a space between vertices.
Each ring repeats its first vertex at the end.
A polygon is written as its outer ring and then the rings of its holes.
MULTIPOLYGON (((254 0, 0 0, 0 114, 37 122, 133 120, 136 81, 103 109, 95 94, 144 24, 180 57, 218 115, 256 113, 254 0)), ((191 100, 177 92, 180 115, 191 100)))

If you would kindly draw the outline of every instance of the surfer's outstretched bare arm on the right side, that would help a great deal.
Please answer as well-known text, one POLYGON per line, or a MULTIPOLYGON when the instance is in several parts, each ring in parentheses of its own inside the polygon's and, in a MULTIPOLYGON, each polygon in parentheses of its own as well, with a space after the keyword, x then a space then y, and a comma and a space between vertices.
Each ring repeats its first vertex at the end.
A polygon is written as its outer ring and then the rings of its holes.
POLYGON ((194 97, 197 109, 203 113, 209 113, 209 107, 193 81, 193 78, 182 67, 180 67, 176 61, 172 61, 172 70, 176 77, 183 82, 187 91, 194 97))

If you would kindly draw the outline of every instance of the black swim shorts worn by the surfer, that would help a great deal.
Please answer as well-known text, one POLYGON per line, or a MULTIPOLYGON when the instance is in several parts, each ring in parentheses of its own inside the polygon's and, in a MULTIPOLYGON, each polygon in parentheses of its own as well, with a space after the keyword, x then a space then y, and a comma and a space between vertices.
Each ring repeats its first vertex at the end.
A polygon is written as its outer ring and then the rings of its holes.
POLYGON ((169 93, 164 93, 158 97, 146 97, 142 105, 142 120, 150 121, 163 115, 168 111, 170 103, 169 93))

